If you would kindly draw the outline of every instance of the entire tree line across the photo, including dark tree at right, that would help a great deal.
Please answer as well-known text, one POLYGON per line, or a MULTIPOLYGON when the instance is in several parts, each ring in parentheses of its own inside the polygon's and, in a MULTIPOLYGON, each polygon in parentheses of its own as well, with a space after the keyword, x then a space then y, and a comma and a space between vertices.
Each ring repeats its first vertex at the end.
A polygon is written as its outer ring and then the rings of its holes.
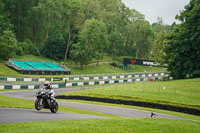
POLYGON ((180 24, 149 24, 121 0, 0 0, 0 58, 44 55, 81 66, 103 55, 153 59, 175 78, 200 76, 200 0, 180 24))

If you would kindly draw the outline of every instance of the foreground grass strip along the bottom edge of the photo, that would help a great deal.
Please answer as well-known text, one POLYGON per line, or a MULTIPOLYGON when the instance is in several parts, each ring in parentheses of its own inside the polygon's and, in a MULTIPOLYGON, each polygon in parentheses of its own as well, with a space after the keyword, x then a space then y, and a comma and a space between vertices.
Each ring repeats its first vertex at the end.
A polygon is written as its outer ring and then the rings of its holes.
POLYGON ((198 133, 200 122, 168 119, 98 119, 0 125, 6 133, 198 133))

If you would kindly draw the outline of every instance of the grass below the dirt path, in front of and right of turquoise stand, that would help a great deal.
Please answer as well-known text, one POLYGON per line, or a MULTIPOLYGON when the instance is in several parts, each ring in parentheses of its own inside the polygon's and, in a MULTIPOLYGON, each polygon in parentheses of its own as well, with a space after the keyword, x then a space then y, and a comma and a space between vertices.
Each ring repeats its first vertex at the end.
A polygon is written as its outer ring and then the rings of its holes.
MULTIPOLYGON (((148 66, 132 66, 129 70, 118 69, 110 66, 109 64, 101 64, 94 66, 85 66, 83 69, 79 67, 72 67, 72 75, 81 74, 106 74, 106 73, 133 73, 133 72, 165 72, 166 68, 160 67, 148 67, 148 66)), ((7 67, 5 64, 0 64, 0 76, 11 76, 11 77, 66 77, 67 75, 23 75, 15 70, 7 67)))

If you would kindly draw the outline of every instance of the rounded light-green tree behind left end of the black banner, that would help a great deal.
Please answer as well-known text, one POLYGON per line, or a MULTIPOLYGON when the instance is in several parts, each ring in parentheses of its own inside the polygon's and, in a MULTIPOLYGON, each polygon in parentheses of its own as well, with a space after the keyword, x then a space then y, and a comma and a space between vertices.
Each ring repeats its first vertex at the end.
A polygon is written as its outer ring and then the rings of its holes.
POLYGON ((149 22, 136 20, 126 27, 128 31, 126 49, 129 53, 134 53, 135 58, 148 59, 152 49, 153 30, 149 22))

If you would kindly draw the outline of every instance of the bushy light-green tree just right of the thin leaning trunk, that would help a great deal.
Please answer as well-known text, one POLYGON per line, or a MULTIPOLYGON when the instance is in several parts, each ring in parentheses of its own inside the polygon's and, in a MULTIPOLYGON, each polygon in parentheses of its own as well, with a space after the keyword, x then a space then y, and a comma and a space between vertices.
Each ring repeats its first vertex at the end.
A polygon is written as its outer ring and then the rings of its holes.
POLYGON ((79 43, 73 45, 71 55, 83 67, 92 58, 96 58, 97 61, 102 59, 106 46, 106 26, 103 22, 92 18, 86 20, 79 33, 79 43))

